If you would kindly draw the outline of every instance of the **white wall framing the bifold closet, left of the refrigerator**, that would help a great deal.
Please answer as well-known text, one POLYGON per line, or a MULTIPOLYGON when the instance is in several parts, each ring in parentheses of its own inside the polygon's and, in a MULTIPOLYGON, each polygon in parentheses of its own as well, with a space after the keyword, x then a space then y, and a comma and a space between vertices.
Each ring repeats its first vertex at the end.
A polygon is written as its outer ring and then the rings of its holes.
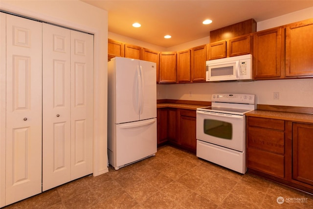
POLYGON ((93 175, 108 172, 108 12, 79 0, 1 0, 0 9, 94 34, 93 175))

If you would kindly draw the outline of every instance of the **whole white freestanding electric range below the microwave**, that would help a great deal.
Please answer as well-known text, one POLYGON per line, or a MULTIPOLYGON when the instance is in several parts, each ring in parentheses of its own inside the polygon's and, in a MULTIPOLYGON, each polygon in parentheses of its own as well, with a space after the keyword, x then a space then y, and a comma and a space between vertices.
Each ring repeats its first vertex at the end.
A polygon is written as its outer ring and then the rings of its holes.
POLYGON ((197 109, 197 157, 246 173, 246 116, 254 94, 212 94, 212 106, 197 109))

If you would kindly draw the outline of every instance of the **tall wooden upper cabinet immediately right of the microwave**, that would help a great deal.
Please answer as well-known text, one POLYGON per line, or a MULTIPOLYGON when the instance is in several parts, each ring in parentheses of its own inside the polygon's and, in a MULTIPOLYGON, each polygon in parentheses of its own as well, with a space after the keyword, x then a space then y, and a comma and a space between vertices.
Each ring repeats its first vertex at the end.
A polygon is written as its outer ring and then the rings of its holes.
POLYGON ((254 79, 277 79, 281 73, 282 28, 276 27, 253 34, 254 79))

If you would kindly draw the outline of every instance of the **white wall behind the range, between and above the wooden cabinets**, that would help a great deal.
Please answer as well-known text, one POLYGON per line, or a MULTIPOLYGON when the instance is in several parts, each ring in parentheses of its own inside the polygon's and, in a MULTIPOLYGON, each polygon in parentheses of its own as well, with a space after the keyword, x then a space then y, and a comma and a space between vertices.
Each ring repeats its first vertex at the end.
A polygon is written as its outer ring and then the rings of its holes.
MULTIPOLYGON (((258 31, 309 18, 313 18, 313 7, 259 22, 258 31)), ((313 78, 238 83, 158 84, 157 99, 210 101, 212 93, 253 93, 257 96, 258 104, 313 107, 312 90, 313 78), (279 92, 280 98, 273 99, 273 92, 279 92)))

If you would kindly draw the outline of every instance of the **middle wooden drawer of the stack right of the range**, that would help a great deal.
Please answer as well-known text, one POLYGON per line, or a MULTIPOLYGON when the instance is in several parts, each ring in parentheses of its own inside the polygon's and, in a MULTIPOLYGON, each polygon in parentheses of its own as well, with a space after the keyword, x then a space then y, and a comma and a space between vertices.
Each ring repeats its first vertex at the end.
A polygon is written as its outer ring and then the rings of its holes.
POLYGON ((248 127, 248 147, 284 154, 284 132, 248 127))

